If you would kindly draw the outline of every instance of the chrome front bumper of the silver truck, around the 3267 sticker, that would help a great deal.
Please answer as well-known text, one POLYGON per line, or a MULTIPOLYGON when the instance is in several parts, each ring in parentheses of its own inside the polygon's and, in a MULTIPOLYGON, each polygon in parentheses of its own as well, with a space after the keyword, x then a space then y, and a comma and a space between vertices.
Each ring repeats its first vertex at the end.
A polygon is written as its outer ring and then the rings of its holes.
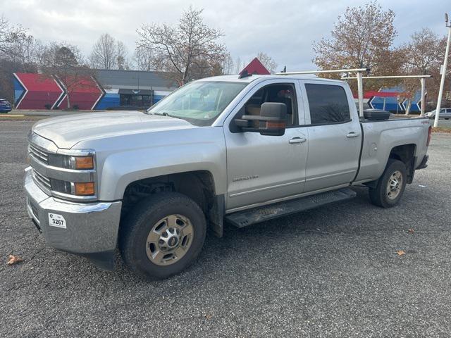
POLYGON ((99 268, 113 269, 121 201, 75 203, 49 196, 32 179, 31 167, 25 169, 25 193, 28 215, 50 246, 87 256, 99 268), (62 215, 66 228, 49 225, 49 213, 62 215))

